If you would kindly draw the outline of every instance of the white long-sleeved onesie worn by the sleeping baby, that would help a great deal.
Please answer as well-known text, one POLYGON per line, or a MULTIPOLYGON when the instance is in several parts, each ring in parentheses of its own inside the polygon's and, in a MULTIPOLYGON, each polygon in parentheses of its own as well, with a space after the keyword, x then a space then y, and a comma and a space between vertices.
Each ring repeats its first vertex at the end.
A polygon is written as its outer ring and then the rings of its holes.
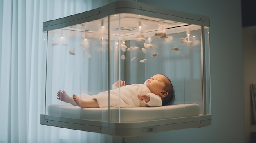
MULTIPOLYGON (((110 90, 110 107, 119 107, 119 92, 120 92, 120 107, 157 107, 162 106, 162 99, 158 95, 151 93, 144 84, 132 84, 118 88, 113 85, 113 90, 110 90), (120 90, 119 90, 120 89, 120 90), (139 94, 150 95, 150 101, 140 101, 137 97, 139 94)), ((81 95, 81 99, 90 100, 96 99, 99 107, 108 107, 108 91, 100 92, 97 95, 81 95)))

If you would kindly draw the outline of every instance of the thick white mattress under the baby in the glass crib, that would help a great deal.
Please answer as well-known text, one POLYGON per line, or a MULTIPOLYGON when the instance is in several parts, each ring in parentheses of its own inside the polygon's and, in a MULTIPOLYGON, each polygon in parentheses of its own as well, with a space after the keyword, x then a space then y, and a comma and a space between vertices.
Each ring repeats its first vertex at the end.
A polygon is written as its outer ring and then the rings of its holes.
MULTIPOLYGON (((119 108, 110 108, 110 121, 119 122, 119 108)), ((120 108, 120 122, 152 121, 179 117, 198 116, 198 104, 178 104, 161 107, 120 108)), ((72 105, 48 106, 48 115, 94 121, 108 121, 108 108, 80 108, 72 105)))

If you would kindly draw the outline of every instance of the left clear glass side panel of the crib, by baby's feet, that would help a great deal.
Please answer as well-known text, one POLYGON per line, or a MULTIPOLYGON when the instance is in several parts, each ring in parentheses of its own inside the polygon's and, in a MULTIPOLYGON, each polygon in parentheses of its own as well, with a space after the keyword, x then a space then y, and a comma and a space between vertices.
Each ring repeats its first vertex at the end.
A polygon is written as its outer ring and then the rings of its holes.
POLYGON ((90 111, 88 116, 79 106, 67 106, 84 105, 80 100, 75 102, 73 94, 85 100, 108 90, 107 24, 108 17, 48 31, 46 114, 108 121, 108 110, 95 111, 97 116, 90 111))

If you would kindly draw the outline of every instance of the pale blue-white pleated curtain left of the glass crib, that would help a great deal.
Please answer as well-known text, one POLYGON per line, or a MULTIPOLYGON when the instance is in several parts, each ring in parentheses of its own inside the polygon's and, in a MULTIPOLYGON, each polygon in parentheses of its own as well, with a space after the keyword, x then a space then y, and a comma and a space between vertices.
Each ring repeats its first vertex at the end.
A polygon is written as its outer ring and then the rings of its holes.
POLYGON ((102 142, 101 134, 40 124, 44 21, 90 10, 92 0, 0 0, 0 143, 102 142))

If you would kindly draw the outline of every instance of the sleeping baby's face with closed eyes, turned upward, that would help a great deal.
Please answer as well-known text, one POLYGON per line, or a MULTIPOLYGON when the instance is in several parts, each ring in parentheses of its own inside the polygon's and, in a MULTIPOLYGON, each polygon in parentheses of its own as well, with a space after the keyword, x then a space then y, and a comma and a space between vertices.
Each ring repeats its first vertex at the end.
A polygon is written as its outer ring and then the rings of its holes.
POLYGON ((167 77, 158 74, 146 80, 145 85, 152 93, 159 95, 160 92, 164 91, 165 84, 168 82, 169 80, 167 79, 167 77))

